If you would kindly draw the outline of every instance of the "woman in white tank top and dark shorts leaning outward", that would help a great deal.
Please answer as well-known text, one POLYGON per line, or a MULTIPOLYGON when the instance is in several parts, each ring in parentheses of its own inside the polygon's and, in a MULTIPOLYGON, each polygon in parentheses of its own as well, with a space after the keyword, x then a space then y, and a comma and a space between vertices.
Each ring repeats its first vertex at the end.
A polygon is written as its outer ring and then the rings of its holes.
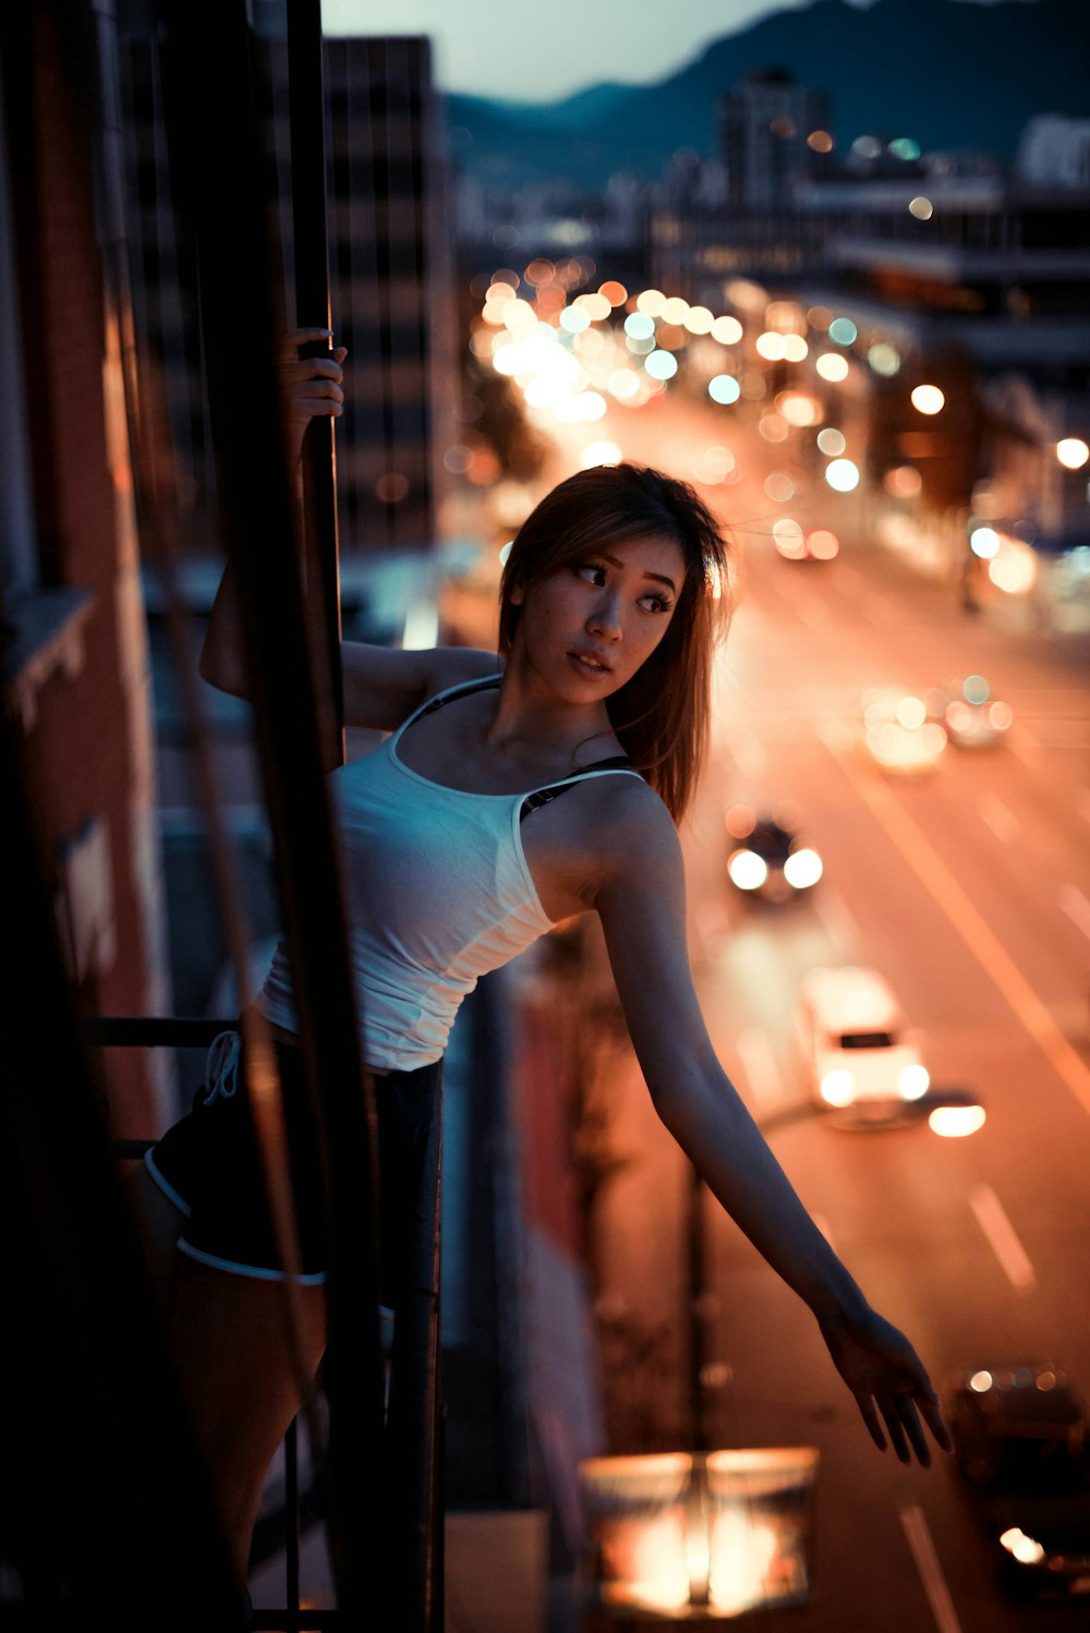
MULTIPOLYGON (((308 338, 299 331, 292 345, 308 338)), ((300 446, 313 415, 339 412, 343 356, 286 364, 300 446)), ((659 1117, 814 1315, 875 1444, 888 1437, 902 1462, 915 1455, 927 1465, 925 1427, 948 1448, 927 1372, 804 1212, 715 1057, 692 985, 676 823, 700 772, 729 576, 726 544, 689 487, 641 467, 599 467, 560 483, 514 539, 499 658, 344 643, 346 725, 390 733, 331 777, 362 1052, 380 1114, 395 1099, 426 1097, 476 978, 552 924, 597 913, 659 1117)), ((245 696, 230 599, 225 581, 202 673, 245 696)), ((281 954, 258 1008, 279 1042, 286 1091, 302 1102, 281 954)), ((235 1128, 245 1120, 237 1048, 225 1045, 220 1057, 206 1104, 160 1141, 142 1182, 158 1221, 158 1261, 173 1267, 183 1380, 245 1577, 264 1475, 299 1391, 274 1339, 274 1246, 268 1226, 263 1243, 253 1230, 261 1213, 253 1141, 243 1150, 245 1138, 230 1132, 232 1119, 235 1128), (207 1192, 219 1171, 237 1199, 243 1166, 251 1179, 240 1225, 207 1192)), ((302 1153, 302 1119, 292 1143, 302 1153)), ((320 1210, 307 1199, 313 1177, 295 1177, 297 1292, 307 1364, 317 1368, 323 1249, 307 1215, 320 1210)))

